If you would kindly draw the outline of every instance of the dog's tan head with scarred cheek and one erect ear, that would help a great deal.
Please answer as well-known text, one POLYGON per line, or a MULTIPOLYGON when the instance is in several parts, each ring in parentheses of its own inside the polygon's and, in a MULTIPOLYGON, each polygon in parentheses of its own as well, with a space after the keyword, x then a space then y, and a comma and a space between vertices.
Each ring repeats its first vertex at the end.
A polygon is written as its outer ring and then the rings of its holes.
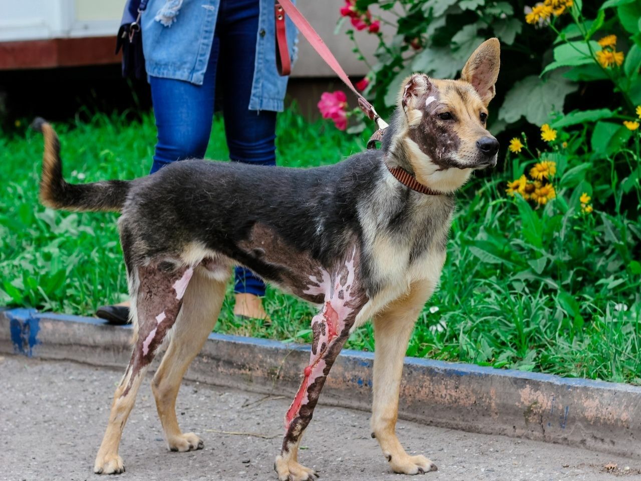
POLYGON ((403 82, 395 144, 421 183, 452 191, 473 169, 496 165, 499 142, 486 122, 499 53, 499 40, 490 38, 472 53, 459 80, 413 74, 403 82))

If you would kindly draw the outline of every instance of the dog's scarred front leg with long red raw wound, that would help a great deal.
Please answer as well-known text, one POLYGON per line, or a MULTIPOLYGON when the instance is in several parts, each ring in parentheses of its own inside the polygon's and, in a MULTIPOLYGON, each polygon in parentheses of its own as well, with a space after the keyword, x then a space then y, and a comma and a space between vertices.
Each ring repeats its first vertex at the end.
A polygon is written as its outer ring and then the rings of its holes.
POLYGON ((274 469, 281 481, 305 481, 318 476, 297 460, 303 431, 312 420, 320 391, 342 349, 349 330, 364 304, 364 296, 354 281, 353 266, 338 273, 329 282, 322 310, 312 319, 313 344, 310 364, 303 372, 303 382, 285 416, 286 433, 274 469), (350 272, 351 269, 351 272, 350 272))

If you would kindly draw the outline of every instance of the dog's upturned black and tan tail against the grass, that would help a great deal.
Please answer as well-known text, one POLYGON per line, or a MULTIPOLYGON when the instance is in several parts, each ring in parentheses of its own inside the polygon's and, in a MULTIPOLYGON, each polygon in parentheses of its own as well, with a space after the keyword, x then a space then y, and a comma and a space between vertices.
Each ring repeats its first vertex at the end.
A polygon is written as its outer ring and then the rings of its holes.
POLYGON ((38 117, 31 128, 44 136, 40 202, 63 210, 121 212, 131 181, 107 180, 86 184, 67 183, 62 178, 60 141, 51 124, 38 117))

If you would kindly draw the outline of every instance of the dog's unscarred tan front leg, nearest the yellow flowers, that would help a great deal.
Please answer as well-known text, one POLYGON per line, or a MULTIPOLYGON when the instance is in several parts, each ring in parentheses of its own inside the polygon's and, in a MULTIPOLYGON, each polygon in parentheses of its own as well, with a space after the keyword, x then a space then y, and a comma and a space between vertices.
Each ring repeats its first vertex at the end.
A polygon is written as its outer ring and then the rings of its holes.
POLYGON ((403 359, 420 310, 434 290, 434 283, 414 283, 410 292, 374 316, 374 400, 372 437, 395 473, 408 475, 435 471, 424 456, 408 455, 395 434, 403 359))

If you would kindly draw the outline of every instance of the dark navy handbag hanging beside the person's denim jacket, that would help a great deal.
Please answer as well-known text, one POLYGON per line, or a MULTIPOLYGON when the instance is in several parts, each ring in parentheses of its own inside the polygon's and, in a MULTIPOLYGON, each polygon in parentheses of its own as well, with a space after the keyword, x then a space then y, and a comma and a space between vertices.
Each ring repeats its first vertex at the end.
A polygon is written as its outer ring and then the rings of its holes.
POLYGON ((116 37, 117 54, 122 49, 122 76, 144 78, 145 56, 142 52, 140 15, 149 0, 128 0, 122 12, 121 26, 116 37))

